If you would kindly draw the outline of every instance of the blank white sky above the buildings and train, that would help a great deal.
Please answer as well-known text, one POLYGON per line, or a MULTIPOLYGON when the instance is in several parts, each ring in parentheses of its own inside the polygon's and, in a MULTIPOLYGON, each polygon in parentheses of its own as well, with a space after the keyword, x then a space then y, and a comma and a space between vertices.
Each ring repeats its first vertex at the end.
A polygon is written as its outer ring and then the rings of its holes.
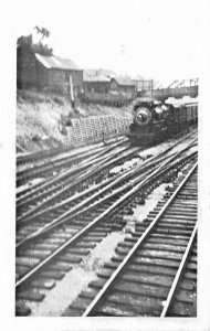
POLYGON ((46 28, 54 54, 161 83, 199 76, 202 0, 17 1, 15 36, 46 28))

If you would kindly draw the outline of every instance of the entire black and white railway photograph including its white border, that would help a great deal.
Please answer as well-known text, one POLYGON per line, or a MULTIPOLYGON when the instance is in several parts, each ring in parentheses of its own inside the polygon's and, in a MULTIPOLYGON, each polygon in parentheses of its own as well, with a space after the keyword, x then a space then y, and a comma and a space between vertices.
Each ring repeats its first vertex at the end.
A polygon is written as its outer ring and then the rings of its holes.
POLYGON ((197 325, 207 2, 17 1, 10 306, 22 330, 38 330, 33 317, 209 330, 197 325))

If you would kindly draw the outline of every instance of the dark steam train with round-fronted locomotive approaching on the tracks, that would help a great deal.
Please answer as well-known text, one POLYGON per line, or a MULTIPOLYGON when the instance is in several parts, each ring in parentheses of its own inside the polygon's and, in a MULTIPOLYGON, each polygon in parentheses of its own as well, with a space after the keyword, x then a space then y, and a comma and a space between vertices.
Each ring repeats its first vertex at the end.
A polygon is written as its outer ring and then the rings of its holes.
POLYGON ((136 99, 129 139, 133 145, 153 145, 188 129, 198 122, 198 102, 185 104, 136 99))

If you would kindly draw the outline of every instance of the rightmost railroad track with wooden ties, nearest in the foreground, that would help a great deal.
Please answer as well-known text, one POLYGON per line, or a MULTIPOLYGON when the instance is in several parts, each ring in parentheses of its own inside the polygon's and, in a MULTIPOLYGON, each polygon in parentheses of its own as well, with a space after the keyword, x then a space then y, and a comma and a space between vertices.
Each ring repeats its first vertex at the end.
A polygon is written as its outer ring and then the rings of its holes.
POLYGON ((196 317, 197 199, 196 163, 67 314, 196 317))

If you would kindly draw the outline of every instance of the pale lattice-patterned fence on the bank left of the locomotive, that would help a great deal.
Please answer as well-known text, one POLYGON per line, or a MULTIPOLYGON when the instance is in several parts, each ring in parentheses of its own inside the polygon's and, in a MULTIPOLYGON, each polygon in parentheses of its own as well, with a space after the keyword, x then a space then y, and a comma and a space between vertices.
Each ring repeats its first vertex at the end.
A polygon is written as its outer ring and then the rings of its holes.
POLYGON ((101 141, 103 137, 128 132, 132 117, 91 116, 71 121, 72 126, 67 127, 70 142, 101 141))

